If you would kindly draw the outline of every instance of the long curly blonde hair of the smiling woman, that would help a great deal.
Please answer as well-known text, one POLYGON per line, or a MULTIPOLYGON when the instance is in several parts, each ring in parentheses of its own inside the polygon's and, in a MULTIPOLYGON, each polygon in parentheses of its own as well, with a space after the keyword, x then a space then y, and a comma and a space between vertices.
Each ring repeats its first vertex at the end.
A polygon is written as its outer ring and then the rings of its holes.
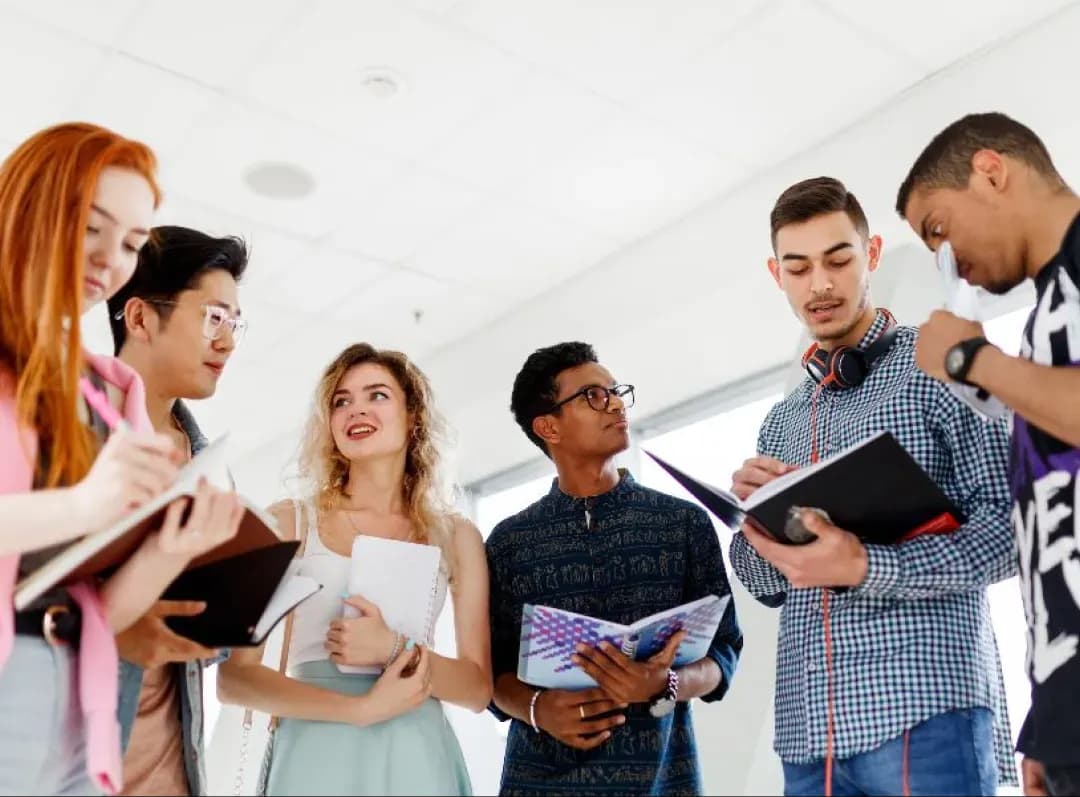
POLYGON ((298 457, 301 477, 322 511, 337 508, 348 496, 349 460, 338 450, 330 432, 330 402, 345 375, 365 363, 381 365, 393 375, 405 392, 405 408, 413 421, 402 482, 406 514, 413 525, 408 541, 437 545, 453 580, 455 514, 440 467, 446 423, 435 409, 428 377, 405 354, 376 349, 369 343, 353 343, 326 367, 301 438, 298 457))

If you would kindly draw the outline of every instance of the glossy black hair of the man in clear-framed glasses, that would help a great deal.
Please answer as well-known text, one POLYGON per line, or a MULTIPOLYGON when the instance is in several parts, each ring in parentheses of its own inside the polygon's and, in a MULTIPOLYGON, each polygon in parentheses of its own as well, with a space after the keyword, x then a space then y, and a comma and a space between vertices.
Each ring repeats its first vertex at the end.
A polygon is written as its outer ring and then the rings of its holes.
MULTIPOLYGON (((228 271, 240 282, 246 268, 247 245, 243 239, 214 238, 188 227, 154 227, 138 253, 132 279, 109 299, 109 328, 117 354, 127 339, 122 313, 129 299, 172 301, 195 287, 210 271, 228 271)), ((162 321, 167 321, 172 307, 161 305, 158 312, 162 321)))

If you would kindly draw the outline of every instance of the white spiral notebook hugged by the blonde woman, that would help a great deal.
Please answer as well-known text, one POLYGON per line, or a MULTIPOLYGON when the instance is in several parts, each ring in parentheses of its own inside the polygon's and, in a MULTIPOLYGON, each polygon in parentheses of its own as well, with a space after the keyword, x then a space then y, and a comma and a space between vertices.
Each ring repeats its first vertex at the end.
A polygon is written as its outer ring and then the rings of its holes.
MULTIPOLYGON (((360 535, 349 564, 349 594, 379 607, 387 625, 414 641, 431 645, 435 636, 443 553, 437 545, 360 535)), ((351 606, 345 617, 357 617, 351 606)), ((342 673, 378 674, 381 667, 338 664, 342 673)))

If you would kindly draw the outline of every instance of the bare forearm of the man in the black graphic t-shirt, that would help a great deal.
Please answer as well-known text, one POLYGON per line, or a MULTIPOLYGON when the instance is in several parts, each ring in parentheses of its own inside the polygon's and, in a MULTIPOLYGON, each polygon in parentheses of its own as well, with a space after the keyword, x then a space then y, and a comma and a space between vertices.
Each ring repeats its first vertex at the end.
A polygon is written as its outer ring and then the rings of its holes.
POLYGON ((1080 367, 1039 365, 987 346, 976 355, 968 378, 1028 422, 1080 446, 1080 367))

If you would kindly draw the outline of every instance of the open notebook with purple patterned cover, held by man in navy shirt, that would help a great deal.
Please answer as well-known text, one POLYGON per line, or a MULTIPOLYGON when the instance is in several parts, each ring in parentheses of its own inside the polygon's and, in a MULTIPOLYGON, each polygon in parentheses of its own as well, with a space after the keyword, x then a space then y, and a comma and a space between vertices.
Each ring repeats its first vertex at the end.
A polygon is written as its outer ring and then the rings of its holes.
POLYGON ((595 646, 606 640, 643 661, 661 650, 679 629, 686 629, 687 637, 679 646, 675 664, 689 664, 708 651, 730 600, 730 595, 723 598, 707 595, 643 618, 633 625, 526 604, 522 609, 517 677, 525 684, 548 689, 588 689, 596 686, 596 681, 570 661, 579 643, 595 646))

